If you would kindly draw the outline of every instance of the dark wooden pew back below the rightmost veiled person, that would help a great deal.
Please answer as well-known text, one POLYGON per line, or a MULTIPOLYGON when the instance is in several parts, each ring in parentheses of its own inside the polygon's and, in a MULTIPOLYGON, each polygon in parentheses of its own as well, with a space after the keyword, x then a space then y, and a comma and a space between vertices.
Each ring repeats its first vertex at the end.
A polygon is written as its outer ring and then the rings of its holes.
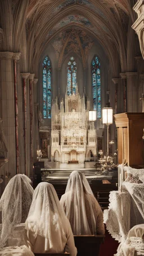
POLYGON ((77 256, 99 256, 100 245, 104 242, 105 235, 80 235, 74 236, 77 256))

